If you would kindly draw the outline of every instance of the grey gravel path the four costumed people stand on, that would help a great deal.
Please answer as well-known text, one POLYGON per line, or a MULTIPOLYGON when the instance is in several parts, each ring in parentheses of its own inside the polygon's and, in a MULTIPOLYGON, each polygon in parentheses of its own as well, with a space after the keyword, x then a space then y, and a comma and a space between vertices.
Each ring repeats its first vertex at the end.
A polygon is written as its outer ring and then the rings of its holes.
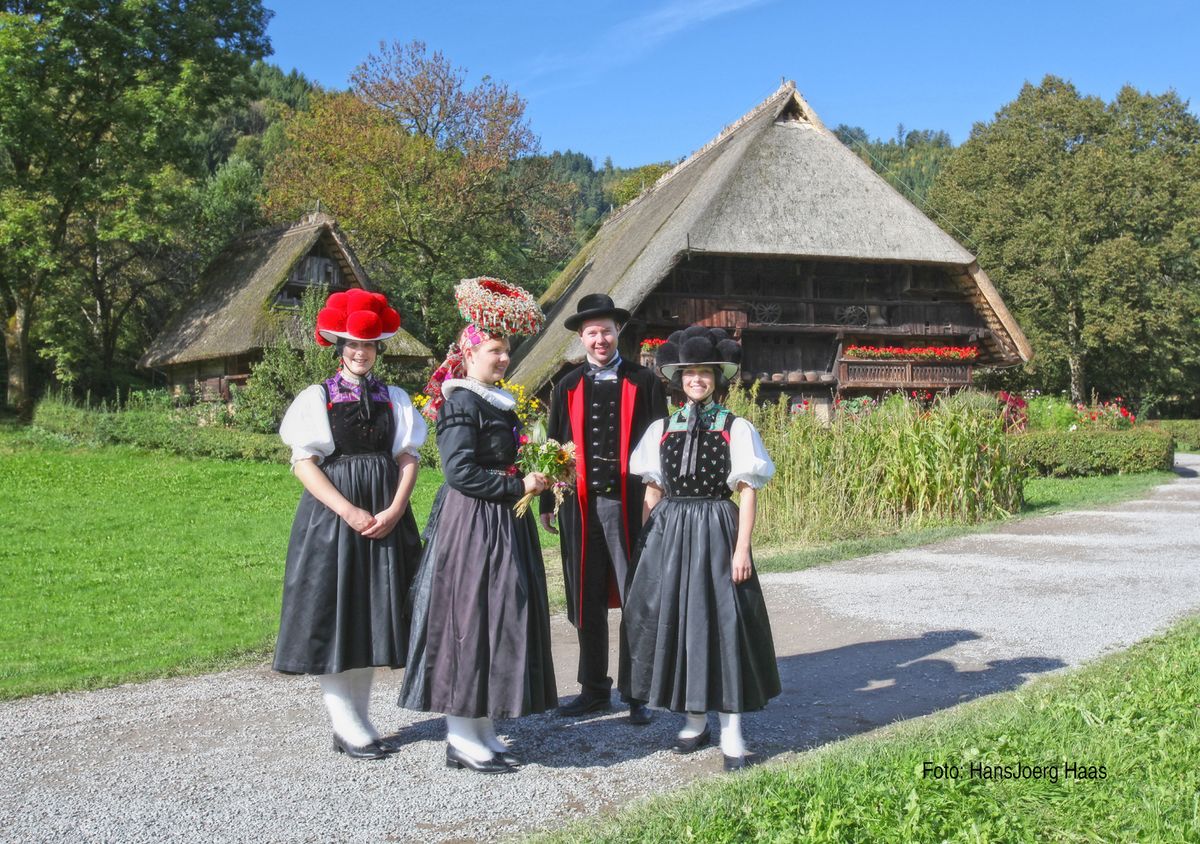
MULTIPOLYGON (((1200 457, 1180 480, 1094 511, 763 576, 784 695, 745 719, 762 755, 796 752, 1013 688, 1200 609, 1200 457)), ((559 692, 574 631, 554 619, 559 692)), ((664 750, 677 717, 502 722, 528 761, 443 766, 439 718, 391 706, 410 741, 384 761, 329 749, 317 686, 265 668, 0 704, 0 840, 478 840, 517 836, 721 776, 720 752, 664 750)), ((714 719, 715 722, 715 719, 714 719)), ((715 728, 715 723, 713 724, 715 728)))

